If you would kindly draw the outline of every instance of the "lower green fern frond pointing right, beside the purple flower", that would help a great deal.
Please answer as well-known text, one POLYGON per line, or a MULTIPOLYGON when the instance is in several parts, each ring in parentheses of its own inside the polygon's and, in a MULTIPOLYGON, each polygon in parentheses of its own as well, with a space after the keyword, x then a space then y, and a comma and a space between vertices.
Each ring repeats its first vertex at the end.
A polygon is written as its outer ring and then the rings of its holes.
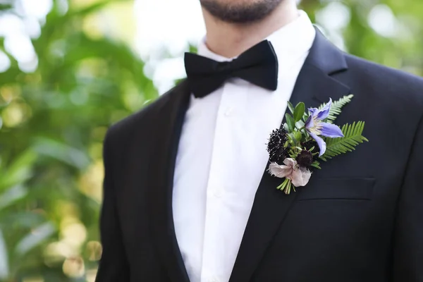
POLYGON ((342 133, 344 137, 341 138, 325 138, 326 152, 320 159, 327 161, 339 154, 345 154, 346 152, 353 152, 355 147, 363 142, 368 142, 366 137, 362 136, 364 130, 364 121, 358 121, 348 125, 345 124, 342 127, 342 133))

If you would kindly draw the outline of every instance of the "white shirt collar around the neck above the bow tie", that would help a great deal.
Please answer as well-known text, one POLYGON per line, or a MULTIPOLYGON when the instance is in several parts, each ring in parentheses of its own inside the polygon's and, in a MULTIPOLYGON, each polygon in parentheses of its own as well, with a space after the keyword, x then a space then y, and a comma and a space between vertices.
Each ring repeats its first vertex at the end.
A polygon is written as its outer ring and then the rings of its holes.
MULTIPOLYGON (((279 30, 269 35, 266 39, 273 45, 276 56, 278 56, 279 67, 290 66, 299 57, 303 56, 312 47, 316 30, 305 11, 298 11, 298 18, 284 25, 279 30)), ((199 46, 197 54, 213 59, 214 61, 231 61, 234 58, 226 58, 210 51, 204 37, 199 46)))

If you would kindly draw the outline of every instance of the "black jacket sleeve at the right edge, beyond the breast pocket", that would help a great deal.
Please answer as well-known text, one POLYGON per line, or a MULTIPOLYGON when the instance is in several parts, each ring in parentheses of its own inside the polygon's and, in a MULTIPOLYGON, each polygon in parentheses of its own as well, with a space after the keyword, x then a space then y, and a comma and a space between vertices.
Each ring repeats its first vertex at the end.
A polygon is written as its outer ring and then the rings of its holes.
POLYGON ((423 118, 417 128, 398 202, 393 281, 423 281, 423 118))

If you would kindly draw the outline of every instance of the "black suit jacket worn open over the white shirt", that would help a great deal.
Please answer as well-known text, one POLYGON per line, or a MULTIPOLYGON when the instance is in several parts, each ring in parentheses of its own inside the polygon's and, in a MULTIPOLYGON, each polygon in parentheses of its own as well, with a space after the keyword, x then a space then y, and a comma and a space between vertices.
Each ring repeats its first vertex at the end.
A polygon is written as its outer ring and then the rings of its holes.
MULTIPOLYGON (((230 282, 423 281, 423 80, 317 32, 290 101, 318 106, 349 93, 337 124, 365 121, 369 142, 291 195, 263 173, 230 282)), ((106 134, 97 282, 189 281, 171 209, 189 96, 180 82, 106 134)))

